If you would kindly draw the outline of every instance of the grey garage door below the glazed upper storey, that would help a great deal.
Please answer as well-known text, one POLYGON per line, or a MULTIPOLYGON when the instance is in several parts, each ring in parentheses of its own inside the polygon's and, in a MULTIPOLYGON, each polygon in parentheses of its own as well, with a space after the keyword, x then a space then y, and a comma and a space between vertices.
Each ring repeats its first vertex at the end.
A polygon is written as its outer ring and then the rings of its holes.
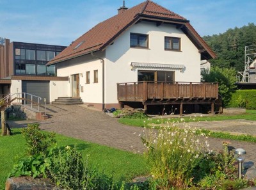
MULTIPOLYGON (((22 92, 41 97, 41 104, 44 103, 44 98, 46 98, 46 103, 50 102, 49 81, 22 81, 22 92)), ((31 99, 30 96, 26 98, 31 99)), ((33 101, 37 102, 37 99, 34 97, 33 101)))

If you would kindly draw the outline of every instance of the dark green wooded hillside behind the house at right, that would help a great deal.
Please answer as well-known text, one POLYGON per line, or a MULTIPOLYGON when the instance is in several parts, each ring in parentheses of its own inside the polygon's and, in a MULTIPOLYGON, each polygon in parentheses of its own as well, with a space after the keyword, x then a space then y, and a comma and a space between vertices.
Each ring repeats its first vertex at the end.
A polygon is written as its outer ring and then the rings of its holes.
POLYGON ((216 59, 209 60, 212 65, 220 68, 234 67, 236 71, 243 71, 244 47, 256 44, 256 26, 249 23, 242 28, 228 29, 225 33, 203 38, 217 54, 216 59))

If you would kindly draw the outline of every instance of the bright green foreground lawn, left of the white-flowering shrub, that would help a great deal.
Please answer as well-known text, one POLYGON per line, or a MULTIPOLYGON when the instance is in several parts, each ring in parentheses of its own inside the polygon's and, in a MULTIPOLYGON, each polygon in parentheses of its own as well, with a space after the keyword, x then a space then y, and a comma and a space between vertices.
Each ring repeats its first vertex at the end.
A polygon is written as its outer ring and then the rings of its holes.
MULTIPOLYGON (((6 177, 12 170, 17 155, 24 155, 26 148, 20 129, 14 129, 13 132, 13 136, 0 136, 0 189, 4 189, 6 177)), ((56 134, 56 139, 58 146, 76 145, 83 157, 89 155, 91 164, 104 171, 106 175, 112 175, 115 180, 131 180, 131 178, 148 173, 143 155, 68 138, 60 134, 56 134)))

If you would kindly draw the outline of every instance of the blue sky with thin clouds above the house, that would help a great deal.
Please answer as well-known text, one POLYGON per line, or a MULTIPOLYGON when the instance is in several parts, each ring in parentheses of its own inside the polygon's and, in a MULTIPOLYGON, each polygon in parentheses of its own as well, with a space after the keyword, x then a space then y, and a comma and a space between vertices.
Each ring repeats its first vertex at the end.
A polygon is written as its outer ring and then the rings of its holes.
MULTIPOLYGON (((125 6, 143 1, 126 0, 125 6)), ((153 1, 190 20, 201 36, 256 24, 256 0, 153 1)), ((116 15, 122 4, 122 0, 0 0, 0 37, 11 42, 69 45, 116 15)))

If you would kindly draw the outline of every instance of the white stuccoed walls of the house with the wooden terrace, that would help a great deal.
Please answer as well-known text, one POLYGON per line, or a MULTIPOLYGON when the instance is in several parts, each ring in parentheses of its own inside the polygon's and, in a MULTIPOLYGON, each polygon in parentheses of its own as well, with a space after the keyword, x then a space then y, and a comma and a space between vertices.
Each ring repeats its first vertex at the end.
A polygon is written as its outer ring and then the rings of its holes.
MULTIPOLYGON (((104 33, 102 33, 104 35, 104 33)), ((120 35, 104 52, 93 54, 104 59, 106 107, 118 104, 117 83, 138 81, 138 70, 172 70, 177 82, 200 82, 200 53, 181 29, 175 25, 154 22, 139 22, 120 35), (130 47, 130 33, 148 35, 148 49, 130 47), (180 38, 180 51, 165 51, 164 36, 180 38), (132 62, 184 65, 182 70, 175 68, 137 68, 132 62)), ((91 54, 73 58, 57 64, 58 76, 68 76, 69 81, 63 84, 62 96, 72 96, 72 75, 79 74, 80 97, 86 104, 102 104, 102 61, 91 54), (93 71, 98 70, 98 83, 93 83, 93 71), (86 84, 86 72, 90 71, 90 84, 86 84), (81 88, 80 88, 81 90, 81 88)), ((59 95, 61 97, 61 95, 59 95)))

